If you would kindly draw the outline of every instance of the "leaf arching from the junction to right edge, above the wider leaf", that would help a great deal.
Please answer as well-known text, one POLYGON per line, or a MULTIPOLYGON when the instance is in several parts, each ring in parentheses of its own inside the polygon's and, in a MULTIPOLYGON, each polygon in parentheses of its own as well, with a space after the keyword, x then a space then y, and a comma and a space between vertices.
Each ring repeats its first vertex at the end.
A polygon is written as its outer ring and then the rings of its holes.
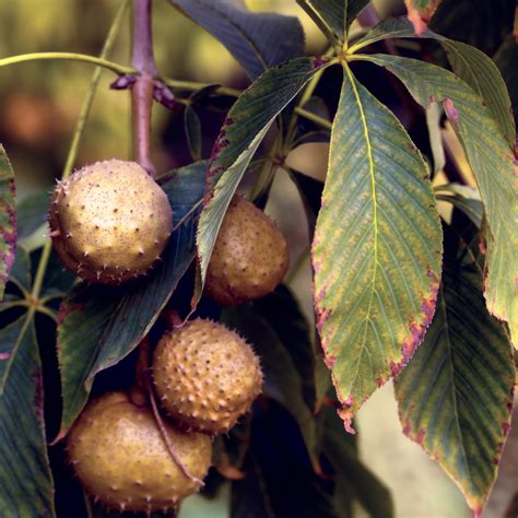
MULTIPOLYGON (((416 37, 416 35, 408 21, 388 19, 373 28, 356 45, 369 45, 387 38, 412 37, 416 37)), ((509 94, 495 63, 476 48, 445 38, 432 31, 425 31, 420 37, 436 39, 443 46, 454 72, 484 99, 491 115, 499 125, 508 145, 514 146, 516 128, 509 94)))

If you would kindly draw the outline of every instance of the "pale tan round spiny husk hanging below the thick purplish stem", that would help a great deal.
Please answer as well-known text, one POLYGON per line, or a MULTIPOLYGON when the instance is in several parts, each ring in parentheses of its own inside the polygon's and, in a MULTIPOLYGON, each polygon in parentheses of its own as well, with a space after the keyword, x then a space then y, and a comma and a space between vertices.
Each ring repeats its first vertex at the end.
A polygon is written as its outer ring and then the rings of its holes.
POLYGON ((48 220, 63 264, 103 284, 144 274, 173 229, 165 192, 139 164, 119 160, 85 166, 59 183, 48 220))

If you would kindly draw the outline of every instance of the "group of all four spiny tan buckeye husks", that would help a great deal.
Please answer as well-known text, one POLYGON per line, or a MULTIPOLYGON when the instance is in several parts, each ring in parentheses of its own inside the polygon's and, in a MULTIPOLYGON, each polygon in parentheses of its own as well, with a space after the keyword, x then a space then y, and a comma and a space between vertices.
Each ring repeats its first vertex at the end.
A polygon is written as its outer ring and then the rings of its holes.
MULTIPOLYGON (((86 166, 58 184, 49 224, 55 249, 92 283, 120 284, 148 273, 173 232, 165 192, 138 164, 86 166)), ((235 305, 270 293, 289 264, 286 242, 252 203, 235 197, 207 275, 209 295, 235 305)), ((126 392, 92 401, 68 436, 86 491, 108 508, 176 509, 211 466, 212 438, 228 432, 261 391, 259 358, 226 327, 195 319, 165 333, 153 352, 153 390, 166 414, 126 392), (173 454, 174 452, 174 454, 173 454)))

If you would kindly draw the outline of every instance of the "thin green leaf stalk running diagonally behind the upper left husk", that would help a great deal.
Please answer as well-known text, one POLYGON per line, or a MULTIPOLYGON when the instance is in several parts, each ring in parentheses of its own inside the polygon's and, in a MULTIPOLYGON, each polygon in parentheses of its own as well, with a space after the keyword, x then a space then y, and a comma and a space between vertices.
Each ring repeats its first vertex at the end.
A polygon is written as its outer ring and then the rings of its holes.
MULTIPOLYGON (((126 12, 126 9, 129 5, 129 2, 130 0, 123 0, 119 9, 117 10, 117 13, 115 14, 115 19, 111 23, 111 26, 109 27, 108 35, 106 36, 106 40, 104 43, 103 50, 101 51, 99 59, 103 61, 111 52, 111 49, 114 48, 115 39, 119 32, 123 14, 126 12)), ((0 60, 0 62, 2 60, 0 60)), ((63 167, 61 179, 66 179, 70 175, 70 173, 72 172, 72 167, 75 162, 75 158, 78 157, 79 144, 84 133, 86 120, 92 109, 92 105, 94 102, 95 93, 97 92, 97 85, 101 80, 102 73, 103 73, 102 66, 97 66, 94 70, 94 73, 92 74, 89 92, 86 94, 86 97, 83 101, 83 105, 81 106, 81 111, 79 114, 78 121, 75 122, 75 129, 74 129, 72 142, 70 144, 69 153, 67 156, 67 162, 63 167)), ((42 292, 43 281, 45 278, 45 272, 47 270, 47 264, 50 258, 51 249, 52 249, 52 242, 48 239, 42 251, 38 268, 36 270, 36 275, 34 278, 33 290, 31 293, 33 299, 38 298, 42 292)))

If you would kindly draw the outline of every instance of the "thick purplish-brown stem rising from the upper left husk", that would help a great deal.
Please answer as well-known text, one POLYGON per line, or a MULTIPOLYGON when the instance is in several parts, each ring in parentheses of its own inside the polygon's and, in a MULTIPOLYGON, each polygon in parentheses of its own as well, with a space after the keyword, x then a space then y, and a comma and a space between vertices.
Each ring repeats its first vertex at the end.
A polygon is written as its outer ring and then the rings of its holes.
POLYGON ((131 64, 140 72, 131 89, 134 160, 155 178, 151 161, 151 110, 154 78, 158 72, 153 55, 151 0, 133 0, 131 64))

